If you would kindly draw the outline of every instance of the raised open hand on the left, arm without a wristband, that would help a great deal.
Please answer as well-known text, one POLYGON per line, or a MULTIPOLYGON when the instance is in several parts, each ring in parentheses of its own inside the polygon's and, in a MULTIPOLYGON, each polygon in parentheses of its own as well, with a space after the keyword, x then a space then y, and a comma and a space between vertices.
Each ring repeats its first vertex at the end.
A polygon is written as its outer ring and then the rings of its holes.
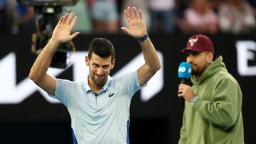
POLYGON ((52 39, 57 40, 58 43, 65 43, 72 40, 79 34, 79 32, 70 34, 78 18, 77 16, 73 18, 73 16, 74 13, 70 13, 70 16, 68 16, 68 13, 66 13, 60 18, 60 21, 58 21, 57 26, 54 28, 52 39))

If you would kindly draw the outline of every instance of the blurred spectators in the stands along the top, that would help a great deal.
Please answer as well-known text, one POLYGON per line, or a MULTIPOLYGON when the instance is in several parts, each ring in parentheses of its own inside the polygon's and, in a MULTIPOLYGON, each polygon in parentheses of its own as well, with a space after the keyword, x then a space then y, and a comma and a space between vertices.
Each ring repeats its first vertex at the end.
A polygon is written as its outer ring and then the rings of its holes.
MULTIPOLYGON (((81 33, 120 33, 127 26, 123 10, 142 10, 149 33, 255 33, 255 0, 79 0, 63 6, 63 13, 78 16, 75 31, 81 33)), ((62 15, 63 13, 60 13, 62 15)), ((0 33, 17 34, 36 29, 33 6, 16 0, 0 0, 0 33)))

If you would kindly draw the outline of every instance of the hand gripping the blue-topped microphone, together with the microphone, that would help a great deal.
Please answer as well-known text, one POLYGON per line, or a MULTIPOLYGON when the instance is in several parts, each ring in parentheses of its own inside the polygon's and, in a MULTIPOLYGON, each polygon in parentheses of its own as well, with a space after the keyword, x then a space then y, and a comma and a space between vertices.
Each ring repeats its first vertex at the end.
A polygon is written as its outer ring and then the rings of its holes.
MULTIPOLYGON (((188 62, 181 62, 178 67, 178 78, 181 79, 181 84, 178 86, 178 96, 182 96, 187 101, 191 101, 193 98, 193 89, 188 86, 186 83, 186 79, 189 79, 191 76, 191 64, 188 62)), ((183 106, 183 99, 181 101, 183 106)))

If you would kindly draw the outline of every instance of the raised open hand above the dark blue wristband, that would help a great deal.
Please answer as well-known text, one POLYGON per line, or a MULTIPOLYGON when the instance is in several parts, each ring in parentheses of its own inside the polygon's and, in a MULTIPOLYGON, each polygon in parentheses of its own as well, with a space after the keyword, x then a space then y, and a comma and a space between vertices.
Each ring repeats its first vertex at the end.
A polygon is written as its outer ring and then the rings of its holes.
POLYGON ((139 10, 139 16, 137 13, 137 9, 129 6, 127 10, 124 10, 125 17, 129 23, 129 28, 122 27, 122 31, 131 35, 134 38, 142 38, 146 35, 146 24, 142 18, 142 11, 139 10))

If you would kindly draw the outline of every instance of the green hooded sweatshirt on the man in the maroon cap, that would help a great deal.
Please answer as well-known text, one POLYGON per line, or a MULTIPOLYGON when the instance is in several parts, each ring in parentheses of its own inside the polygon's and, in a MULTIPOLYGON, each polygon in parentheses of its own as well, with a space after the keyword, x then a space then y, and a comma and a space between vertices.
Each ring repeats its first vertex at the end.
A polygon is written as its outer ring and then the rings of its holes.
POLYGON ((201 79, 191 76, 198 99, 185 102, 179 144, 242 144, 242 92, 218 57, 201 79))

